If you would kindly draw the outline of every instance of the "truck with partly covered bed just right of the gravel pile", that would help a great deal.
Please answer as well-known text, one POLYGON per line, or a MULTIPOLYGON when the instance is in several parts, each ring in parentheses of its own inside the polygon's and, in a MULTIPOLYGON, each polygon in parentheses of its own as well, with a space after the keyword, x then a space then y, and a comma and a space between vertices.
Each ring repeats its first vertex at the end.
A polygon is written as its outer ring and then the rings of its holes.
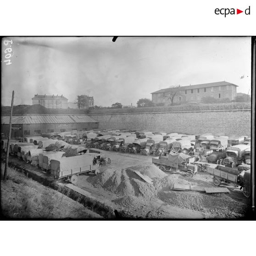
POLYGON ((152 158, 161 171, 179 170, 186 173, 186 176, 192 178, 197 173, 197 166, 193 164, 195 157, 185 155, 183 153, 170 152, 168 156, 156 156, 152 158))

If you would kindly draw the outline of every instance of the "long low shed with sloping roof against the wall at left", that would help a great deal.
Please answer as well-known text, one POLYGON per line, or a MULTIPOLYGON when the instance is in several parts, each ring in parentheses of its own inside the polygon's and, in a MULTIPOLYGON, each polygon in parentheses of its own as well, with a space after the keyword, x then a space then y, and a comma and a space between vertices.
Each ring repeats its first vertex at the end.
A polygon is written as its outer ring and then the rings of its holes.
MULTIPOLYGON (((1 133, 8 135, 10 116, 1 116, 1 133)), ((87 115, 13 115, 11 137, 41 135, 43 133, 87 131, 98 129, 99 122, 87 115)))

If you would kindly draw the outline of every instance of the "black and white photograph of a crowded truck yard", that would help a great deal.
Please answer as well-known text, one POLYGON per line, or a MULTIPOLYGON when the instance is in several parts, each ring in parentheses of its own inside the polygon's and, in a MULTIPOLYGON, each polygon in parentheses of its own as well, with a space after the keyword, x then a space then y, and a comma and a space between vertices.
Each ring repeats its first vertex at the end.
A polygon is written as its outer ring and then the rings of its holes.
POLYGON ((250 36, 3 37, 1 218, 249 219, 251 70, 250 36))

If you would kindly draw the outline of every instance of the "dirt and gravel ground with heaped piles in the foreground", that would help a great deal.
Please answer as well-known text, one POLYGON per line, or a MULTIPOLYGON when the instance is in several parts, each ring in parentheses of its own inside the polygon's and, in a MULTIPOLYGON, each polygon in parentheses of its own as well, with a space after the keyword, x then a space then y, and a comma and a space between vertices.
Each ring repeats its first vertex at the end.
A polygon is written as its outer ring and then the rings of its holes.
MULTIPOLYGON (((143 168, 156 168, 152 165, 153 156, 112 151, 106 151, 105 155, 111 158, 111 164, 100 167, 100 174, 97 176, 95 174, 82 174, 78 176, 77 186, 89 192, 91 197, 96 200, 116 209, 125 217, 150 219, 235 219, 245 217, 250 205, 250 200, 245 198, 239 188, 235 188, 232 185, 221 185, 221 187, 227 187, 230 194, 206 194, 203 192, 175 191, 171 189, 173 183, 213 188, 215 186, 212 183, 212 177, 208 173, 198 173, 193 178, 187 178, 182 174, 165 172, 163 177, 160 177, 161 175, 159 177, 152 177, 153 184, 151 185, 145 183, 139 176, 133 176, 134 174, 131 170, 141 172, 143 168), (102 176, 104 178, 106 173, 111 174, 111 172, 115 173, 115 175, 110 175, 109 179, 106 179, 106 182, 104 181, 104 184, 96 182, 98 179, 96 177, 100 176, 101 178, 102 176), (122 174, 119 175, 118 173, 122 174), (128 190, 132 191, 131 194, 118 193, 118 191, 123 192, 123 188, 117 187, 118 189, 114 189, 109 185, 110 183, 117 183, 118 179, 119 183, 122 183, 125 179, 126 184, 128 184, 127 186, 132 186, 132 190, 128 190)), ((13 160, 19 163, 22 162, 22 166, 26 164, 16 157, 11 157, 11 161, 13 160)), ((36 171, 35 167, 29 164, 26 164, 26 168, 33 170, 33 172, 36 171)), ((157 168, 157 170, 161 172, 160 169, 157 168)), ((62 183, 61 181, 59 182, 62 183)))

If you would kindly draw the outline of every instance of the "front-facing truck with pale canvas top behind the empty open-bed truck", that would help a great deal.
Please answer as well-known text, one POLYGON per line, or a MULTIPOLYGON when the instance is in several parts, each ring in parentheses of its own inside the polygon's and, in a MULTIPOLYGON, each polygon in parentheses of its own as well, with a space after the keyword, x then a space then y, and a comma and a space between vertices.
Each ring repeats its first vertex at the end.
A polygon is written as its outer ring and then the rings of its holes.
POLYGON ((224 159, 225 166, 231 166, 233 169, 245 162, 245 150, 248 149, 248 145, 238 144, 227 148, 227 156, 224 159))

